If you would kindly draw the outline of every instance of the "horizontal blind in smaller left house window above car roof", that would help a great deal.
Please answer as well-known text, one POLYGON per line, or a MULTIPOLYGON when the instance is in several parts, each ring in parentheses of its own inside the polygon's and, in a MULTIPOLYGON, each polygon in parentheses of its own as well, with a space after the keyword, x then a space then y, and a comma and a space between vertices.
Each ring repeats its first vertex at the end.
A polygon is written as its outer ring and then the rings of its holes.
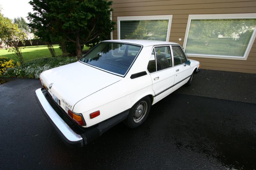
POLYGON ((120 39, 166 41, 169 20, 120 21, 120 39))

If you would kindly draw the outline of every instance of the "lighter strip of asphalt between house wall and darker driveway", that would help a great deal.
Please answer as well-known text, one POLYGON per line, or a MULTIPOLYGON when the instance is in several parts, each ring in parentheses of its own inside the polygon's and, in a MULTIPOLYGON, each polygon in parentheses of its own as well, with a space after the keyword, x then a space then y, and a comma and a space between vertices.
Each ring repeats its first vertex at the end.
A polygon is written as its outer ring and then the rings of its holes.
POLYGON ((177 92, 256 103, 255 85, 256 74, 201 69, 190 87, 183 86, 177 92))

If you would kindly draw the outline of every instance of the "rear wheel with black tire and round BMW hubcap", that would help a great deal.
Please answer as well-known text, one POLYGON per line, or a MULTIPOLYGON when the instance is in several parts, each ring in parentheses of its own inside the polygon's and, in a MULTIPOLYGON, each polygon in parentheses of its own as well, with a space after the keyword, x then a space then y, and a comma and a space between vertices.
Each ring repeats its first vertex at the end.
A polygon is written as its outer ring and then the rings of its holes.
POLYGON ((151 100, 149 96, 143 97, 132 106, 129 115, 124 120, 124 124, 129 128, 140 126, 147 119, 150 108, 151 100))

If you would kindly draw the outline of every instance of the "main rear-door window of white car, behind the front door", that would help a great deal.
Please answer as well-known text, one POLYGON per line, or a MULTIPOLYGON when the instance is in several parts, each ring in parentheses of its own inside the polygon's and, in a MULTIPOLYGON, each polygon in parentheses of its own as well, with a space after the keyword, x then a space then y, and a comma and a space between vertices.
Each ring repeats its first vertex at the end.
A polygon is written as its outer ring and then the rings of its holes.
POLYGON ((170 46, 155 47, 155 53, 157 71, 172 67, 170 46))

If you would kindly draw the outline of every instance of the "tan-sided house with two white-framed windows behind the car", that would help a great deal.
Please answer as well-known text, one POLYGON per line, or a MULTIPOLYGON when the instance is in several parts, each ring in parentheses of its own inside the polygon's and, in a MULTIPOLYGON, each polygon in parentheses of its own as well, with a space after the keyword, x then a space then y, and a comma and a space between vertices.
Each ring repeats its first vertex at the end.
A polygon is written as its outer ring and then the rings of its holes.
POLYGON ((256 73, 255 0, 112 1, 112 39, 172 41, 202 69, 256 73))

